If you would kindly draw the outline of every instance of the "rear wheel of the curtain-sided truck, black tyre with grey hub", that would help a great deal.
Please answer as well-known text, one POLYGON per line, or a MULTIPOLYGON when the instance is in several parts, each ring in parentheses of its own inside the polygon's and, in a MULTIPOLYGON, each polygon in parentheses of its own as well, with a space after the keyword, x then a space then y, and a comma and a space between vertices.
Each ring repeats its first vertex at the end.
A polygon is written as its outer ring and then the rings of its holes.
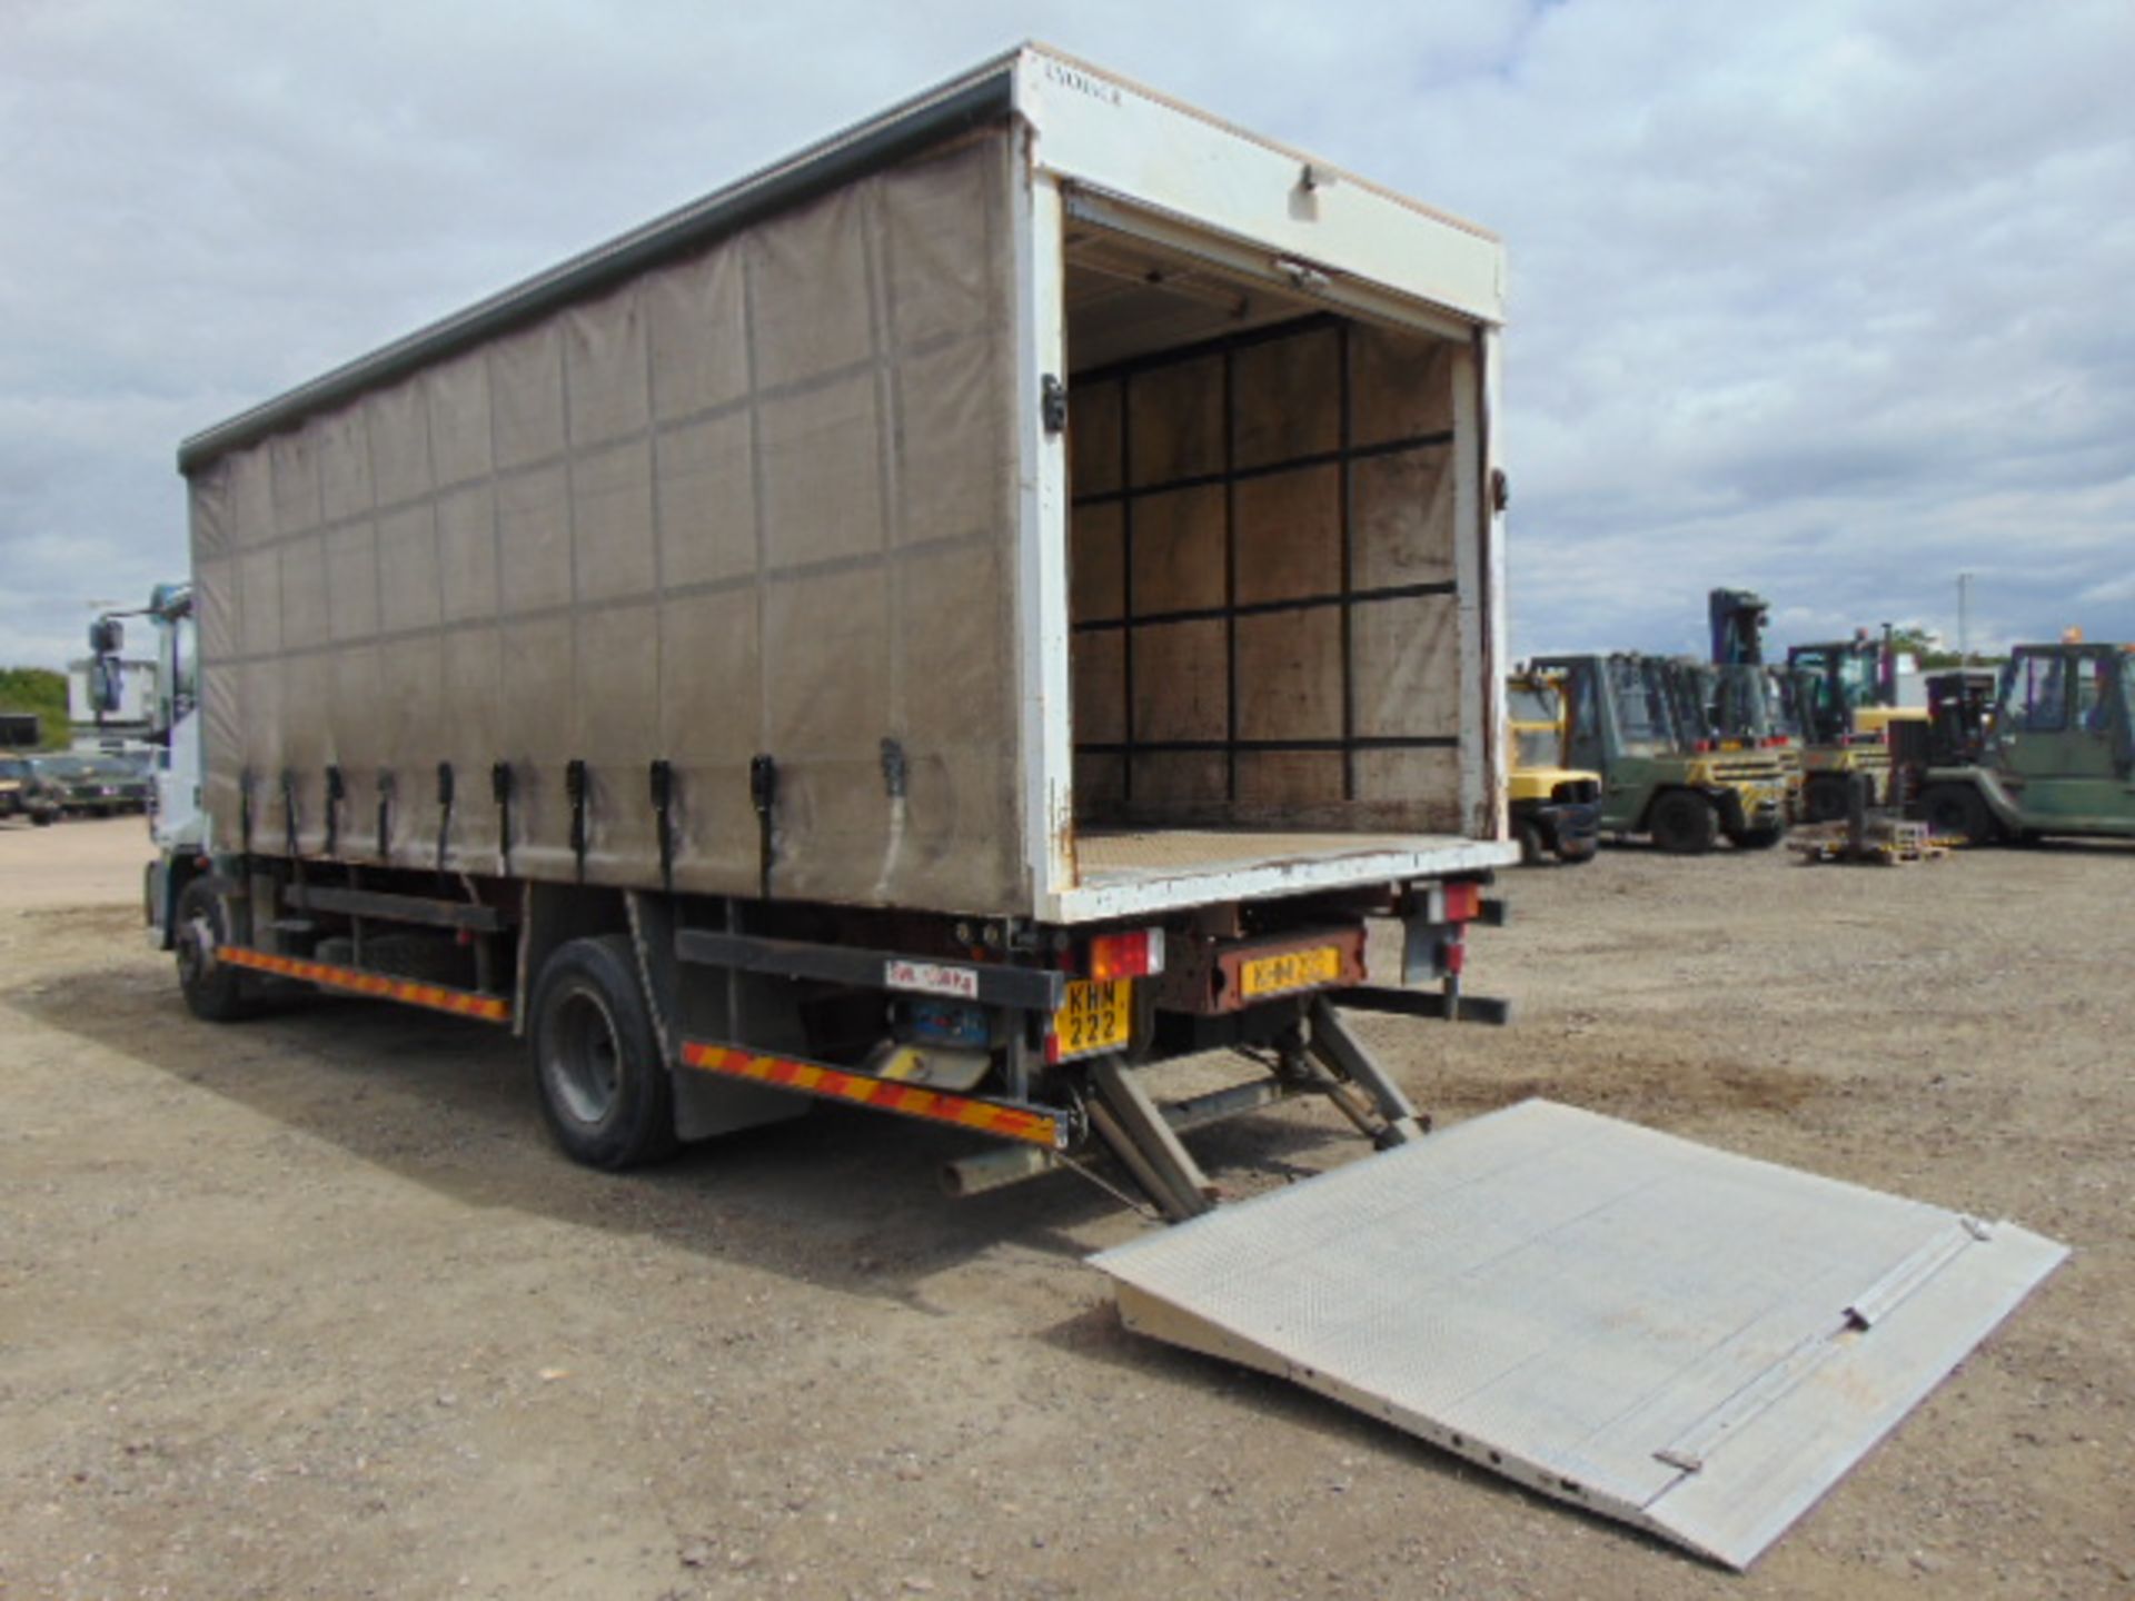
POLYGON ((675 1151, 675 1084, 626 935, 572 939, 534 986, 534 1080, 549 1131, 587 1168, 675 1151))

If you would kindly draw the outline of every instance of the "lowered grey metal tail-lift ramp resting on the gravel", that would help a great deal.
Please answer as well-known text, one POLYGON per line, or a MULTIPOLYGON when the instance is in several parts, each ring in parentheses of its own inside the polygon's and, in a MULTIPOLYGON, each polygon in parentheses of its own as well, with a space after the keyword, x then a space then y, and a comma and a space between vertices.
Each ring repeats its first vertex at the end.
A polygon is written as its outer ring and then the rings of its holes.
POLYGON ((1093 1262, 1138 1332, 1749 1567, 2065 1255, 1524 1101, 1093 1262))

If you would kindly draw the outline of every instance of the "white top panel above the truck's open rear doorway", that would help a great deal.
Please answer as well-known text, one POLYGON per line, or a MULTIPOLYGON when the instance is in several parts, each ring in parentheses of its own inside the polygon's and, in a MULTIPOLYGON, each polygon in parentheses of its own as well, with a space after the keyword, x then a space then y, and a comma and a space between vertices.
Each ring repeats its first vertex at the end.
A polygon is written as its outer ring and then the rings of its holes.
POLYGON ((1044 45, 1016 51, 1014 73, 1035 164, 1070 186, 1471 322, 1503 322, 1505 250, 1488 228, 1044 45))

